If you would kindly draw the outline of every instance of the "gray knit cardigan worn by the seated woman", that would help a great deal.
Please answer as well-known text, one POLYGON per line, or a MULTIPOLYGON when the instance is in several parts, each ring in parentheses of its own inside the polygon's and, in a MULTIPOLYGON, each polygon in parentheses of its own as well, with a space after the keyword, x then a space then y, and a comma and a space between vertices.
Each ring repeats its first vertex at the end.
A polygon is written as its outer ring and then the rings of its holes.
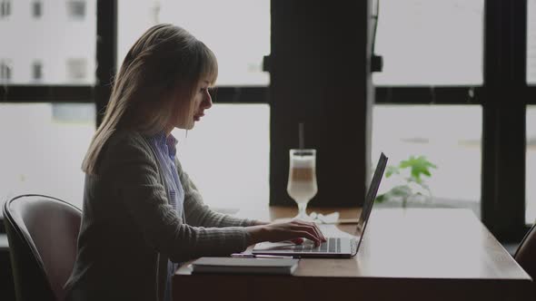
POLYGON ((247 248, 243 227, 254 221, 203 205, 178 160, 184 213, 177 217, 154 152, 140 133, 115 132, 97 166, 97 175, 85 177, 77 256, 65 284, 67 300, 162 300, 168 258, 184 262, 247 248))

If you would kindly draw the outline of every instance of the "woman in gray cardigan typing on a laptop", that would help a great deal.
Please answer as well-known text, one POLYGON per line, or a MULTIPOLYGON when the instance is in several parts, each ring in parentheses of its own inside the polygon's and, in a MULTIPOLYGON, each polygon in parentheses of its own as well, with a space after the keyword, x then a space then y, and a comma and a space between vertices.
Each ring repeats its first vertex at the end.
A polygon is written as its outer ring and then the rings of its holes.
POLYGON ((150 28, 126 54, 82 166, 84 211, 67 299, 170 300, 176 263, 261 241, 323 241, 313 223, 233 218, 203 205, 175 158, 171 131, 193 129, 210 109, 217 72, 212 51, 170 24, 150 28))

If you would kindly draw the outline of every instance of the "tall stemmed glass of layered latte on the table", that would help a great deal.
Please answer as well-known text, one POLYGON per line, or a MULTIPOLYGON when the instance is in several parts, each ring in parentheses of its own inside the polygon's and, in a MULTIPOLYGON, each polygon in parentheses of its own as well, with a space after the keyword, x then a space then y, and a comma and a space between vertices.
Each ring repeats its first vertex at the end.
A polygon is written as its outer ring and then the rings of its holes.
POLYGON ((298 204, 294 218, 311 221, 305 211, 307 203, 316 195, 316 150, 290 150, 290 169, 287 192, 298 204))

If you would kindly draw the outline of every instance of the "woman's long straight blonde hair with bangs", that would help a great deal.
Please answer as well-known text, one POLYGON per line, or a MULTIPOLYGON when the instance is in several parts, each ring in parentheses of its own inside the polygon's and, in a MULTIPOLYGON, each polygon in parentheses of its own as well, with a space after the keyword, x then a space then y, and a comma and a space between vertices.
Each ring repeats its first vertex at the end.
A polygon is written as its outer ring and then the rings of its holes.
POLYGON ((99 154, 114 131, 154 134, 177 114, 191 115, 197 84, 202 78, 214 83, 217 74, 213 52, 192 34, 172 24, 149 28, 124 57, 82 170, 97 173, 99 154))

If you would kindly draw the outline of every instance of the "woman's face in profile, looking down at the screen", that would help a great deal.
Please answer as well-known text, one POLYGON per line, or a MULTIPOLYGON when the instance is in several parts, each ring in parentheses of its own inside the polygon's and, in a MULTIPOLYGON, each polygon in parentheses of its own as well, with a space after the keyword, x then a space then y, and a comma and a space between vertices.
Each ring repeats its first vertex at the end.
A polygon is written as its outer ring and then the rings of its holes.
MULTIPOLYGON (((213 100, 208 92, 209 81, 203 79, 197 83, 197 89, 192 99, 191 114, 189 112, 178 113, 175 118, 174 127, 184 130, 192 130, 196 121, 201 121, 204 111, 213 106, 213 100)), ((187 109, 186 109, 187 111, 187 109)))

